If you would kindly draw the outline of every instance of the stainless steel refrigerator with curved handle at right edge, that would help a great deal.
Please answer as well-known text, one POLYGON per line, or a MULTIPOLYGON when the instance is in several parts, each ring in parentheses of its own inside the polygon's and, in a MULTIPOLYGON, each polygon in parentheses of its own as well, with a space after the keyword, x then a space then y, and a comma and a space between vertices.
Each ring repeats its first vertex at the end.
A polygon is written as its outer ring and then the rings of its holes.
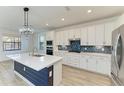
POLYGON ((111 76, 114 85, 124 85, 124 25, 112 33, 111 76))

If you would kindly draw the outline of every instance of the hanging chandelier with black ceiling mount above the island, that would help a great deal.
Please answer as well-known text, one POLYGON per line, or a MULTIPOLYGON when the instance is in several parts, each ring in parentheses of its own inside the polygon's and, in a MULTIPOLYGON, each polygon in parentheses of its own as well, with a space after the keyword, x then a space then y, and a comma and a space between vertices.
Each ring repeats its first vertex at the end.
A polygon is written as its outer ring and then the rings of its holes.
POLYGON ((21 33, 21 35, 31 35, 34 33, 33 28, 31 27, 31 25, 28 24, 28 11, 29 8, 25 7, 24 8, 24 25, 22 28, 19 29, 19 32, 21 33))

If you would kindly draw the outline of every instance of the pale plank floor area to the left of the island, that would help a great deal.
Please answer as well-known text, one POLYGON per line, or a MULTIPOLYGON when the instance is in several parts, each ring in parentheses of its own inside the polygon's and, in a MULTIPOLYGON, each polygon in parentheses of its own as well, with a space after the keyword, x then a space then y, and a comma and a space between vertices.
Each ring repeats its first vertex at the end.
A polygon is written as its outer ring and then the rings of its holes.
POLYGON ((0 86, 27 86, 20 77, 13 72, 13 62, 0 62, 0 86))

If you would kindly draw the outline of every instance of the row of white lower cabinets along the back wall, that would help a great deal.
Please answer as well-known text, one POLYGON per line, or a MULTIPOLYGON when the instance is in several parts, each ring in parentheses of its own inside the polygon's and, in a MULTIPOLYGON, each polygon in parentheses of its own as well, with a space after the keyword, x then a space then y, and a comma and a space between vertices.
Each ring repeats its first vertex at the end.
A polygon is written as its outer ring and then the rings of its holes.
POLYGON ((58 56, 63 57, 63 64, 85 69, 100 74, 110 75, 111 57, 97 55, 81 55, 76 53, 61 52, 58 56))

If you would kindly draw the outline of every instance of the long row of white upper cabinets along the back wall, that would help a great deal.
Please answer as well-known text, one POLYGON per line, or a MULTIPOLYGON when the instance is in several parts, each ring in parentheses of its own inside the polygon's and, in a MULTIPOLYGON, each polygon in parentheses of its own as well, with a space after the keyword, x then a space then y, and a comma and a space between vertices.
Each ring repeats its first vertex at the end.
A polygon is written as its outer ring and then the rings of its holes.
MULTIPOLYGON (((76 29, 62 30, 55 32, 55 41, 56 45, 69 45, 70 39, 80 39, 81 45, 111 46, 111 37, 113 30, 113 22, 95 24, 76 29)), ((47 40, 54 38, 53 33, 49 32, 49 34, 47 35, 47 40)))

